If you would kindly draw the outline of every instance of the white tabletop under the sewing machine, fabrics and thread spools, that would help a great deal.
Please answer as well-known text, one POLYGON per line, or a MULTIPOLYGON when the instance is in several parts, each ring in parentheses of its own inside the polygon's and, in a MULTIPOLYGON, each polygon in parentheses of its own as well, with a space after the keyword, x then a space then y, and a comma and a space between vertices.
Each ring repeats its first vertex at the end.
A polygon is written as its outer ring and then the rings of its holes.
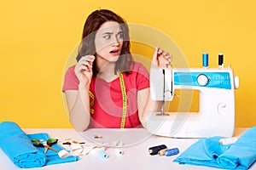
MULTIPOLYGON (((177 147, 180 153, 186 150, 191 144, 194 144, 198 139, 172 139, 150 135, 143 128, 141 129, 90 129, 85 133, 78 133, 74 129, 23 129, 26 133, 49 133, 51 138, 57 138, 61 141, 65 139, 73 139, 79 142, 94 142, 102 144, 102 142, 113 142, 122 140, 124 142, 124 155, 119 156, 113 150, 108 148, 108 158, 102 159, 96 153, 92 152, 87 156, 82 156, 79 161, 50 165, 40 168, 29 168, 33 170, 124 170, 124 169, 215 169, 212 167, 199 167, 189 165, 179 165, 177 162, 172 162, 177 156, 150 156, 148 148, 159 144, 166 144, 168 148, 177 147), (121 132, 120 132, 121 130, 121 132), (102 139, 95 139, 94 135, 102 136, 102 139)), ((246 128, 236 128, 234 136, 240 136, 246 128)), ((9 160, 3 150, 0 149, 0 169, 15 170, 20 169, 9 160)), ((256 163, 250 169, 256 169, 256 163)))

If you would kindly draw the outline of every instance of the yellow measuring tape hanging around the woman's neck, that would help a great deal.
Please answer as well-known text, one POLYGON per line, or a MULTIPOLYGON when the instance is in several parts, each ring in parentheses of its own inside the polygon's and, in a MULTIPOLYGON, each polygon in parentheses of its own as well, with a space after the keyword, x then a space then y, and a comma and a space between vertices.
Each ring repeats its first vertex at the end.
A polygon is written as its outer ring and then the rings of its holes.
MULTIPOLYGON (((125 117, 126 117, 126 111, 127 111, 127 99, 126 99, 126 90, 125 90, 125 81, 122 73, 119 73, 119 82, 120 82, 120 87, 122 91, 122 97, 123 97, 123 114, 122 114, 122 119, 121 119, 121 127, 120 128, 125 128, 125 117)), ((89 96, 92 99, 90 101, 90 107, 94 105, 94 95, 89 91, 89 96)), ((90 109, 90 114, 94 114, 94 110, 90 109)))

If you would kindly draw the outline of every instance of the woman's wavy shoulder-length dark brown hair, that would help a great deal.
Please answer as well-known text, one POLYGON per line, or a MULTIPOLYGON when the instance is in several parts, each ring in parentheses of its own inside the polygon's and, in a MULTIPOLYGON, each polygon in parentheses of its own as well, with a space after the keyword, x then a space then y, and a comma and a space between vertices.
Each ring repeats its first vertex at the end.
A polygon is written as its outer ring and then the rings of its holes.
MULTIPOLYGON (((79 44, 79 54, 77 61, 84 55, 96 55, 95 37, 96 31, 99 30, 100 26, 107 21, 116 21, 119 23, 121 30, 123 31, 123 46, 119 59, 116 61, 114 73, 117 71, 129 73, 131 71, 131 64, 133 58, 130 52, 130 37, 129 28, 118 14, 113 13, 108 9, 100 9, 92 12, 84 23, 84 31, 82 35, 82 41, 79 44)), ((92 67, 93 75, 98 72, 96 70, 96 63, 93 63, 92 67)))

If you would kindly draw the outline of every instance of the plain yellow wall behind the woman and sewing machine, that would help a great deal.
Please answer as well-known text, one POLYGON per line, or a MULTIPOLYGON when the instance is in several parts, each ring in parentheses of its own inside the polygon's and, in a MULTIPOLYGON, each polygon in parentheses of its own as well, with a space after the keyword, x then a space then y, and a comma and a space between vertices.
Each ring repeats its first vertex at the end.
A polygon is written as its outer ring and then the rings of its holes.
POLYGON ((3 1, 0 122, 72 127, 61 94, 67 59, 88 14, 108 8, 128 23, 152 26, 172 37, 190 67, 201 67, 203 52, 209 54, 210 67, 216 67, 218 53, 224 53, 224 65, 240 77, 236 127, 255 126, 255 6, 253 0, 3 1))

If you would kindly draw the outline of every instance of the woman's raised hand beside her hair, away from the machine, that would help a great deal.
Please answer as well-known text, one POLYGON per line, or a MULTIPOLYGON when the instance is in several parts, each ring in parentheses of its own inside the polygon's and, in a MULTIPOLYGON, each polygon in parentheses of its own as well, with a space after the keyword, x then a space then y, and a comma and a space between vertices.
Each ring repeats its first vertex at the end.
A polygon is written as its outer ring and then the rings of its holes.
POLYGON ((80 85, 89 86, 92 77, 92 65, 94 55, 83 56, 75 66, 75 74, 79 78, 80 85))

